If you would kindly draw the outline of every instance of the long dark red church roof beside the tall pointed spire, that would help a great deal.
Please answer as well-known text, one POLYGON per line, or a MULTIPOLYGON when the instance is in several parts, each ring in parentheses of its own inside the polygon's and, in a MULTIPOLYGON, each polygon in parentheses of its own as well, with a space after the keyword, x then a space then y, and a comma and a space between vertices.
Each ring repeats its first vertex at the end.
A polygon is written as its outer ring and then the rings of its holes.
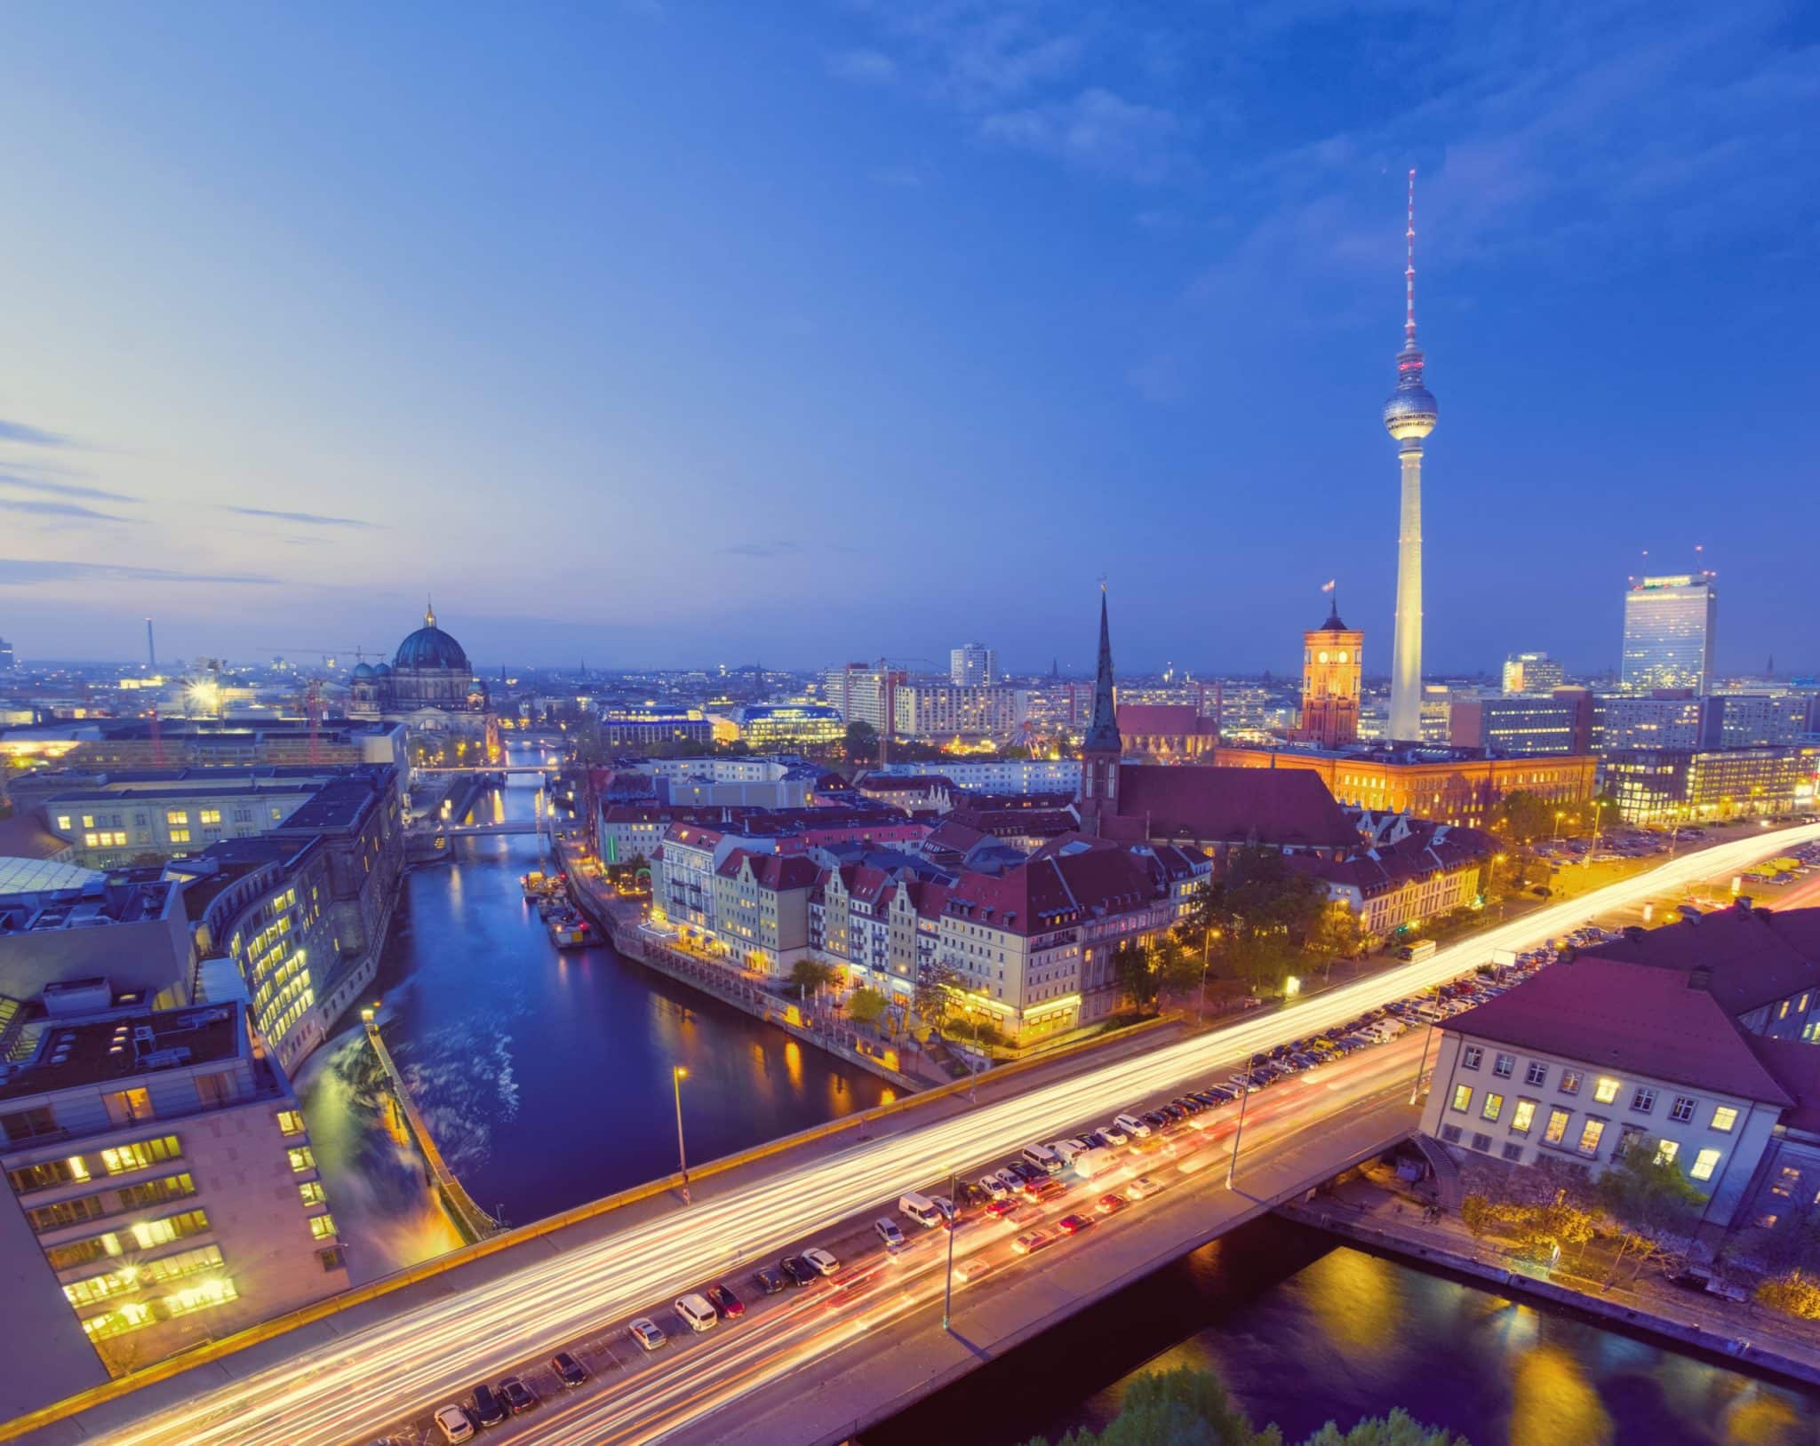
POLYGON ((1352 848, 1358 829, 1318 773, 1299 768, 1119 764, 1110 837, 1278 848, 1352 848))

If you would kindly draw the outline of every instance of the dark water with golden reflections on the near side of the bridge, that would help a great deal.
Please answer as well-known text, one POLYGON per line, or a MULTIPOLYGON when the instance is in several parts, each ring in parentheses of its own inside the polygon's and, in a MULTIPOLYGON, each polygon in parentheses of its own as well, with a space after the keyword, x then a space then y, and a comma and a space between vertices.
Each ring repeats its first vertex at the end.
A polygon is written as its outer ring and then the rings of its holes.
MULTIPOLYGON (((959 1322, 965 1331, 965 1317, 959 1322)), ((1057 1441, 1147 1370, 1214 1371, 1289 1442, 1403 1406, 1474 1446, 1793 1446, 1815 1395, 1427 1275, 1265 1219, 864 1435, 864 1446, 1057 1441)))

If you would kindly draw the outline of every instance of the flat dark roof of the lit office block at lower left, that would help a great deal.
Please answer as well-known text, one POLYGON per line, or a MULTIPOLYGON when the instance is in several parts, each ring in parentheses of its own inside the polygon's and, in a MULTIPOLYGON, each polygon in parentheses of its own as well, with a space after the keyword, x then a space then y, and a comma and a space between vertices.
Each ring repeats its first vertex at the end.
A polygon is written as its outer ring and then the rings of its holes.
POLYGON ((78 1024, 47 1020, 29 1060, 0 1066, 0 1100, 233 1059, 244 1042, 235 1002, 120 1013, 78 1024))

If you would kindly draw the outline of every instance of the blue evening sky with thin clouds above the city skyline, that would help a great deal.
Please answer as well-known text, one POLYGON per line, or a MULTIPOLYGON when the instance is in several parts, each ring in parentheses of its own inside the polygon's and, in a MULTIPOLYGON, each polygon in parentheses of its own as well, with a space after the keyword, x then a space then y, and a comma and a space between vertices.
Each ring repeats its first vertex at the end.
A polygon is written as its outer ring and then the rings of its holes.
POLYGON ((1414 166, 1431 668, 1813 671, 1816 133, 1753 0, 13 11, 0 635, 1383 668, 1414 166))

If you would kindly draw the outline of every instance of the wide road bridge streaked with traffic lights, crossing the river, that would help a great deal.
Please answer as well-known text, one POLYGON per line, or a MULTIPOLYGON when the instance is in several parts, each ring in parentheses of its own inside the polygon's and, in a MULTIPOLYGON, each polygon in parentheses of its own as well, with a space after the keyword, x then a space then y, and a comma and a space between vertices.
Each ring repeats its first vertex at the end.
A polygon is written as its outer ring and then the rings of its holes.
MULTIPOLYGON (((546 1408, 499 1430, 499 1441, 592 1446, 681 1428, 701 1439, 839 1441, 1405 1137, 1429 1042, 1412 1033, 1247 1097, 1243 1110, 1198 1117, 1205 1128, 1172 1140, 1172 1153, 1119 1162, 1161 1186, 1154 1199, 1039 1255, 1014 1253, 999 1226, 972 1222, 886 1264, 863 1242, 903 1190, 974 1175, 1032 1139, 1219 1079, 1256 1049, 1454 979, 1496 949, 1529 948, 1589 915, 1813 838, 1820 826, 1682 855, 1290 1009, 1176 1042, 1147 1035, 1057 1051, 994 1069, 977 1100, 961 1082, 712 1162, 688 1180, 652 1180, 98 1386, 0 1428, 0 1441, 35 1431, 47 1442, 109 1433, 120 1446, 311 1446, 400 1430, 420 1439, 428 1411, 510 1370, 544 1391, 546 1408), (943 1304, 950 1277, 937 1248, 948 1240, 961 1286, 943 1304), (753 1264, 808 1244, 843 1259, 834 1282, 753 1300, 744 1320, 681 1331, 652 1357, 626 1350, 628 1317, 668 1322, 662 1302, 675 1295, 715 1279, 744 1284, 753 1264), (579 1351, 595 1379, 559 1404, 541 1362, 561 1348, 579 1351)), ((1099 1188, 1077 1188, 1057 1208, 1081 1208, 1083 1190, 1099 1188)))

